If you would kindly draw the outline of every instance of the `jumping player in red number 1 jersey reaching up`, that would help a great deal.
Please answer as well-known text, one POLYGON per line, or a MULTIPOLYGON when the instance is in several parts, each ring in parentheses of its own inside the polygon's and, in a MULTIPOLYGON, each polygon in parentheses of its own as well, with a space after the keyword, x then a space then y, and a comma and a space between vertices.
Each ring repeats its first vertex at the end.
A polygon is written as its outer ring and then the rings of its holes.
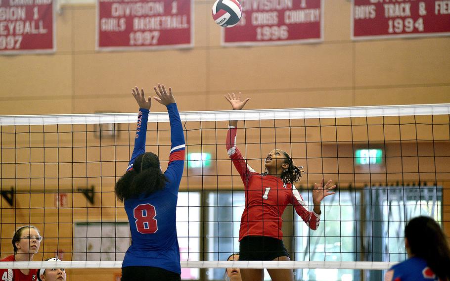
MULTIPOLYGON (((233 110, 240 110, 250 98, 240 100, 234 93, 225 95, 233 110)), ((281 149, 273 149, 266 157, 265 173, 257 173, 245 161, 236 147, 237 121, 230 121, 226 135, 226 149, 236 170, 244 182, 245 209, 239 230, 239 260, 290 261, 284 247, 281 232, 281 216, 288 204, 292 204, 303 221, 316 230, 320 220, 320 202, 336 186, 331 180, 323 185, 314 184, 313 212, 295 187, 300 182, 302 171, 295 167, 291 157, 281 149)), ((294 281, 292 269, 268 269, 272 281, 294 281)), ((263 269, 241 269, 243 281, 264 280, 263 269)))

